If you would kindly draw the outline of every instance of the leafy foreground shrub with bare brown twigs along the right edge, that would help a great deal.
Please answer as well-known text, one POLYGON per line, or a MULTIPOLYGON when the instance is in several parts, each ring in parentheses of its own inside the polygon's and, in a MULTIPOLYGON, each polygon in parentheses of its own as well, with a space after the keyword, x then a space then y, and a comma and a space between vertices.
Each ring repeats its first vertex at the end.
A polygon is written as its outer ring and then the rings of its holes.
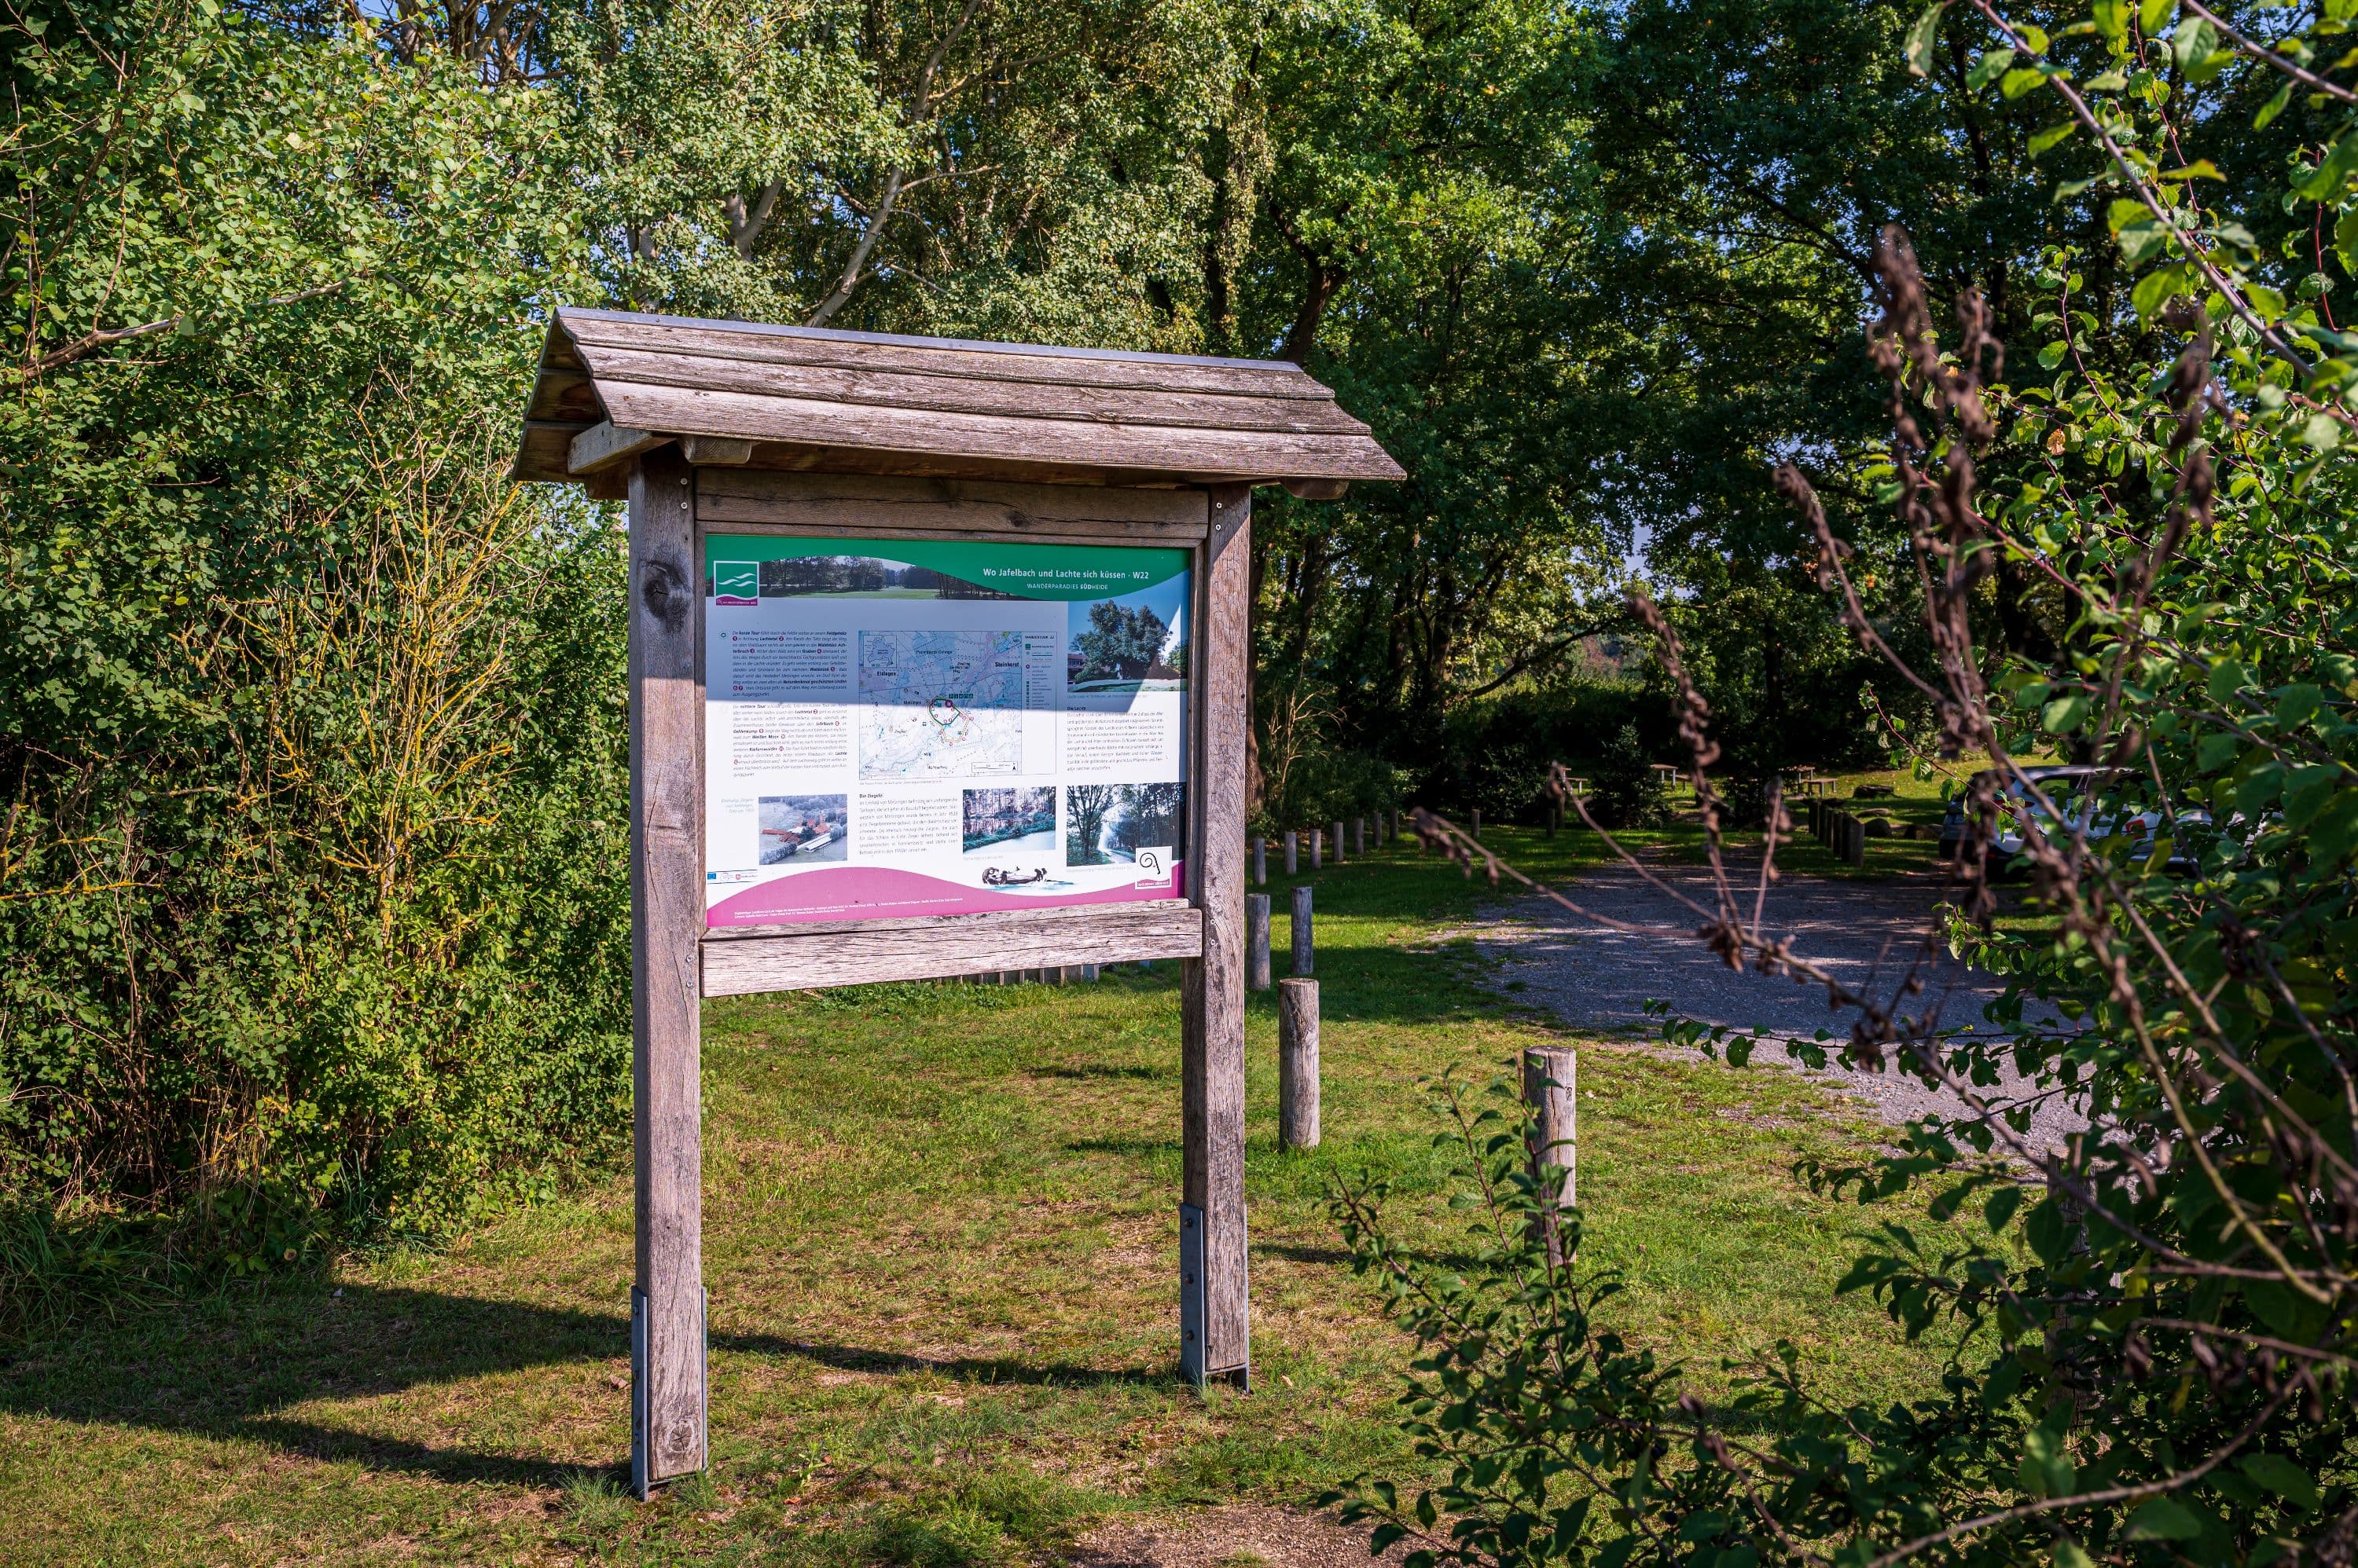
MULTIPOLYGON (((1945 938, 2009 976, 1993 1007, 2004 1037, 1945 1026, 1915 974, 1844 986, 1733 891, 1702 936, 1851 1009, 1846 1037, 1794 1042, 1799 1059, 1955 1096, 1893 1153, 1809 1167, 1863 1203, 1926 1191, 1934 1219, 1959 1221, 1938 1240, 1882 1224, 1842 1285, 1903 1332, 1950 1339, 1941 1389, 1830 1408, 1790 1349, 1738 1368, 1726 1401, 1684 1389, 1611 1335, 1608 1280, 1533 1247, 1537 1184, 1511 1120, 1455 1094, 1483 1214, 1474 1269, 1401 1257, 1377 1193, 1339 1195, 1361 1266, 1424 1342, 1410 1431, 1448 1474, 1417 1497, 1370 1485, 1361 1509, 1387 1521, 1379 1540, 1481 1563, 2351 1561, 2358 417, 2353 344, 2325 318, 2323 281, 2273 283, 2287 262, 2316 264, 2320 233, 2358 241, 2341 26, 2155 0, 2047 31, 1969 0, 1905 38, 1929 73, 1945 28, 1967 28, 1962 90, 2051 116, 2044 141, 2077 163, 2063 196, 2108 200, 2106 266, 2125 288, 2092 288, 2096 262, 2066 245, 2040 252, 2014 274, 2018 299, 2054 302, 2030 318, 2047 340, 2037 373, 2014 356, 2000 380, 2000 318, 1967 292, 1943 335, 1912 248, 1889 231, 1868 356, 1891 439, 1853 481, 1879 486, 1901 538, 1891 554, 1842 538, 1797 465, 1778 490, 1844 625, 1919 681, 1926 769, 1971 769, 1978 865, 2007 821, 2051 924, 1997 924, 1969 882, 1926 936, 1924 957, 1945 938), (2320 212, 2273 250, 2238 186, 2191 158, 2224 139, 2200 116, 2235 94, 2259 130, 2301 94, 2325 111, 2290 200, 2271 203, 2320 212), (2059 587, 2054 646, 1983 632, 2000 561, 2059 587), (1858 592, 1893 568, 1922 582, 1919 663, 1858 592), (2089 809, 2023 769, 2047 747, 2092 762, 2089 809), (2084 1129, 2030 1137, 2044 1103, 2084 1129)), ((1707 703, 1669 620, 1636 608, 1700 773, 1717 762, 1707 703)), ((1672 1037, 1733 1061, 1754 1049, 1688 1023, 1672 1037)))

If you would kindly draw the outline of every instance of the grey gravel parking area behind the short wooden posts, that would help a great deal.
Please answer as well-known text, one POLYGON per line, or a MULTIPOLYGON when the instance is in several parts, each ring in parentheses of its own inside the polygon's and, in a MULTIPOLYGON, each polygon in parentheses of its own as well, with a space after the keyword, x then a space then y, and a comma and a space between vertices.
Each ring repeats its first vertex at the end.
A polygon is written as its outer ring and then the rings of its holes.
MULTIPOLYGON (((1695 903, 1705 908, 1714 903, 1707 868, 1651 870, 1695 903)), ((1757 875, 1757 863, 1738 872, 1745 908, 1757 875)), ((1644 1004, 1665 1000, 1674 1014, 1702 1023, 1766 1028, 1768 1047, 1754 1052, 1754 1063, 1806 1073, 1837 1094, 1870 1103, 1891 1125, 1926 1113, 1964 1113, 1955 1094, 1926 1089, 1903 1073, 1853 1073, 1839 1063, 1811 1070, 1787 1059, 1780 1049, 1785 1040, 1809 1040, 1820 1028, 1839 1040, 1849 1033, 1853 1014, 1835 1012, 1820 986, 1728 969, 1695 941, 1693 913, 1627 865, 1592 872, 1568 884, 1563 894, 1599 915, 1651 931, 1641 936, 1613 931, 1547 898, 1526 896, 1486 910, 1471 936, 1483 957, 1493 960, 1495 986, 1544 1007, 1566 1026, 1651 1040, 1658 1026, 1646 1019, 1644 1004)), ((1764 924, 1773 936, 1787 938, 1797 955, 1823 964, 1849 988, 1891 997, 1926 934, 1938 931, 1938 903, 1945 896, 1948 882, 1934 875, 1889 882, 1785 875, 1768 894, 1764 924)), ((1983 1019, 1983 1007, 2002 986, 1950 957, 1945 943, 1936 943, 1919 979, 1924 990, 1901 1002, 1901 1012, 1910 1016, 1929 1012, 1950 1030, 2002 1033, 1983 1019)), ((2009 1073, 2000 1092, 2016 1094, 2026 1087, 2009 1073)), ((2042 1106, 2033 1118, 2030 1141, 2054 1148, 2084 1125, 2061 1106, 2042 1106)))

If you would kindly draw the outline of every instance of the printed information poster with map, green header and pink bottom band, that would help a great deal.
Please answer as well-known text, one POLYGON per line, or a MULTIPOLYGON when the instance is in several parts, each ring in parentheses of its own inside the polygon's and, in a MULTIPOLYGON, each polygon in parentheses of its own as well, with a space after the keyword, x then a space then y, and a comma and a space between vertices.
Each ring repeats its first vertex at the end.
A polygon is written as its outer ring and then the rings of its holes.
POLYGON ((705 924, 1186 896, 1188 552, 705 538, 705 924))

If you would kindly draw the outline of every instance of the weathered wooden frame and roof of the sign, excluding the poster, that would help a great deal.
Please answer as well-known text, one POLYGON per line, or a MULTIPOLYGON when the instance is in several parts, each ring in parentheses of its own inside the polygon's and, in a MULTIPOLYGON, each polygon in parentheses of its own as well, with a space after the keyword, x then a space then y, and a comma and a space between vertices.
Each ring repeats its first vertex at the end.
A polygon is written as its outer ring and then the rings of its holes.
POLYGON ((1250 1379, 1252 488, 1398 465, 1297 365, 559 311, 516 479, 630 502, 632 1485, 705 1467, 707 995, 1181 960, 1179 1361, 1250 1379), (1186 898, 705 927, 705 533, 1184 547, 1186 898))

